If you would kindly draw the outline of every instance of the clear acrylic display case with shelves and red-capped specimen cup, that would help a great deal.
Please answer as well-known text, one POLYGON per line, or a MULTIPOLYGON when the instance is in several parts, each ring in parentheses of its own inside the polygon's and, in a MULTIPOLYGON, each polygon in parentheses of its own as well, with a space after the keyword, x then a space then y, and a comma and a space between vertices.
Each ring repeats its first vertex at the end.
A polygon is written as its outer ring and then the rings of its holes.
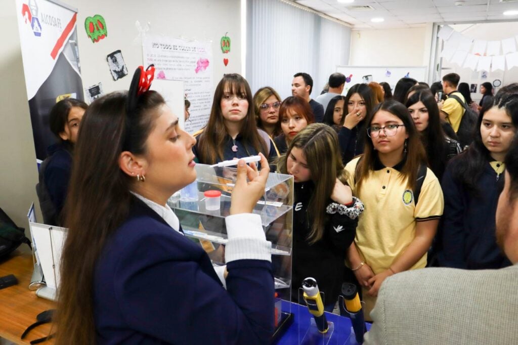
MULTIPOLYGON (((225 217, 230 214, 231 195, 236 182, 237 169, 235 167, 211 167, 205 164, 196 164, 195 169, 196 181, 175 193, 169 199, 168 205, 178 216, 184 234, 200 243, 214 265, 224 265, 227 242, 225 217), (221 192, 219 209, 207 209, 206 195, 219 194, 208 191, 221 192)), ((213 200, 211 204, 213 204, 213 200)), ((212 205, 209 208, 214 207, 212 205)), ((271 241, 271 261, 276 296, 289 300, 293 234, 293 177, 270 172, 264 195, 256 204, 253 213, 261 215, 266 239, 271 241)), ((278 300, 280 301, 280 299, 278 300)), ((276 324, 282 322, 281 311, 278 310, 276 311, 276 324)))

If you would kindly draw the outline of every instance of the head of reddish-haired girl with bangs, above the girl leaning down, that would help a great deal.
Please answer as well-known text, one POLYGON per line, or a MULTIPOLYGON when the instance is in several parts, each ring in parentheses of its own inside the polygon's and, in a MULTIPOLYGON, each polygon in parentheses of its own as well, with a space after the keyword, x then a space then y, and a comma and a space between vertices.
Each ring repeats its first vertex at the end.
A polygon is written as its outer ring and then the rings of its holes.
POLYGON ((284 154, 298 132, 315 122, 313 110, 306 99, 290 96, 282 101, 279 109, 279 124, 282 134, 274 139, 280 154, 284 154))

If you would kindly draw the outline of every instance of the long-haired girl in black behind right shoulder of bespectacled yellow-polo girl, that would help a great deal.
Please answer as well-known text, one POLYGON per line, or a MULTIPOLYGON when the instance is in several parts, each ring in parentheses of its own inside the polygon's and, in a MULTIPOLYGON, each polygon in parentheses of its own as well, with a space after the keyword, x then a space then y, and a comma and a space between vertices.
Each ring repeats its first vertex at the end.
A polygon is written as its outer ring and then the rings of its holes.
POLYGON ((448 161, 461 153, 461 145, 444 134, 439 107, 431 92, 421 91, 412 94, 406 106, 415 127, 421 134, 428 166, 440 181, 448 161))

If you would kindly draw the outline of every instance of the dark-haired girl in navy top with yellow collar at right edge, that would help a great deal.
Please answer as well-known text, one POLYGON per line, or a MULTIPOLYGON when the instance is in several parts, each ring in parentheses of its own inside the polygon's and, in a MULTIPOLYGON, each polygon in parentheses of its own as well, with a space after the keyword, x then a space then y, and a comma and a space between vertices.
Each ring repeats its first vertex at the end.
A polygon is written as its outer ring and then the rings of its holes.
POLYGON ((518 128, 518 94, 484 106, 473 142, 450 161, 442 186, 444 215, 439 265, 492 269, 511 265, 495 240, 495 212, 505 156, 518 128))

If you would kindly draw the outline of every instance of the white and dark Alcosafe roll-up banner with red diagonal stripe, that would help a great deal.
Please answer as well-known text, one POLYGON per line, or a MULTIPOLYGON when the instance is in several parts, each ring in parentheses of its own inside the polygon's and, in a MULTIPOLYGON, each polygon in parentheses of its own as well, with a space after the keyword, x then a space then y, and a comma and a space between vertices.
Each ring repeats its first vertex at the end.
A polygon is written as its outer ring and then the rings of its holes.
POLYGON ((56 141, 49 111, 59 100, 83 100, 77 10, 57 0, 16 0, 27 99, 38 162, 56 141))

